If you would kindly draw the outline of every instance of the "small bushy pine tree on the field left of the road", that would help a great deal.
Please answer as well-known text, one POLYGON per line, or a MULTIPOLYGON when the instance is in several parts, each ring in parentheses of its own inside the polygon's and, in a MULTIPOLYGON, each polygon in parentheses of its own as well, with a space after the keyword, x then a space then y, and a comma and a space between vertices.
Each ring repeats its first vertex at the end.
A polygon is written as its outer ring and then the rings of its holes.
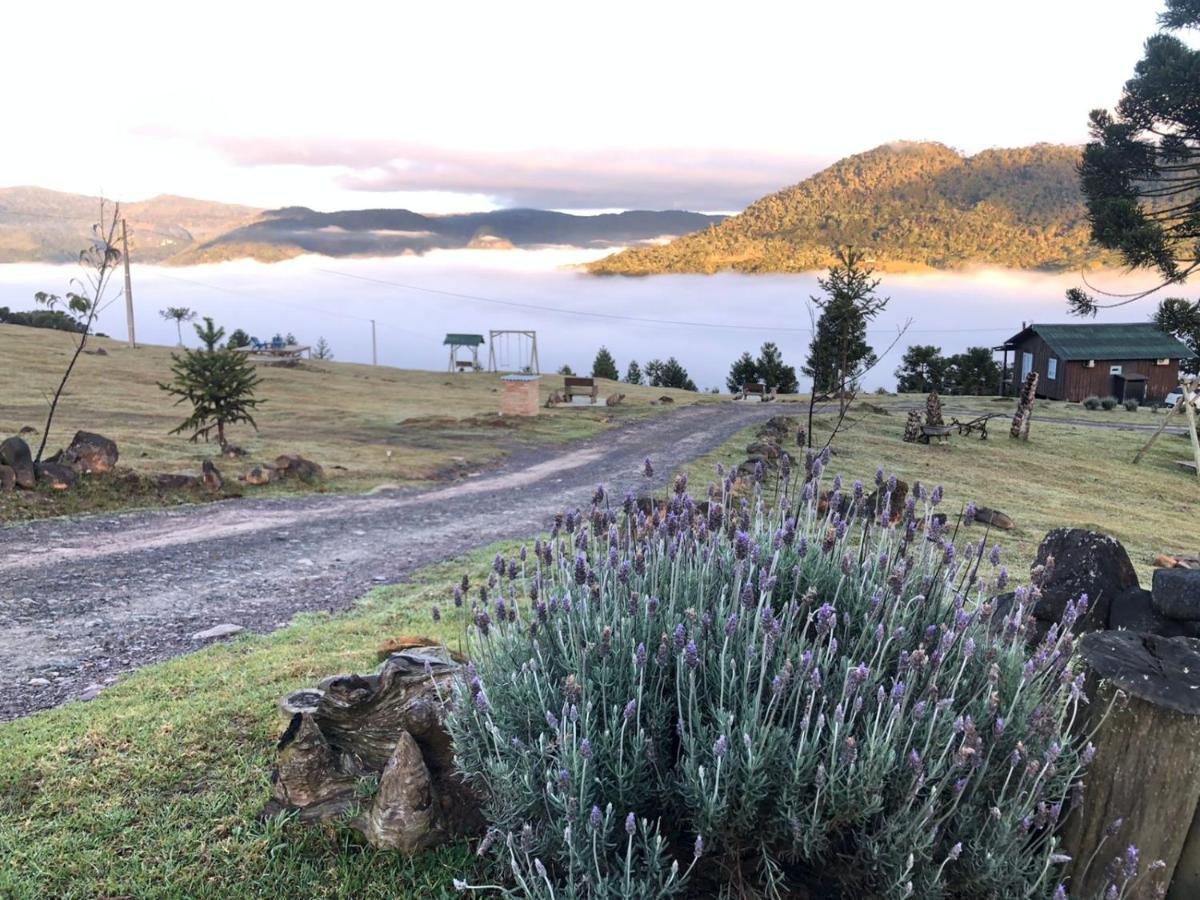
POLYGON ((170 430, 170 434, 191 431, 188 440, 208 440, 216 430, 217 443, 226 446, 226 426, 248 422, 254 430, 253 410, 264 401, 254 397, 254 389, 262 380, 245 353, 218 348, 224 336, 223 328, 215 328, 212 319, 204 318, 204 328, 194 325, 203 342, 200 349, 185 349, 182 355, 172 354, 170 371, 174 379, 158 386, 176 397, 175 403, 190 403, 192 414, 170 430))

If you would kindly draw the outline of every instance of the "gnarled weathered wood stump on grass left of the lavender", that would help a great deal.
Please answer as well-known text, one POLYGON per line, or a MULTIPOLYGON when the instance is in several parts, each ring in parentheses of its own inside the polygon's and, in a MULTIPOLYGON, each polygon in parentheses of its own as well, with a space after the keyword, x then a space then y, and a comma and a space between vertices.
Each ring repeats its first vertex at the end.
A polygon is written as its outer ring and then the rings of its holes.
POLYGON ((455 773, 445 709, 458 664, 444 647, 389 656, 374 674, 294 691, 268 812, 340 821, 376 847, 416 853, 478 833, 479 800, 455 773))

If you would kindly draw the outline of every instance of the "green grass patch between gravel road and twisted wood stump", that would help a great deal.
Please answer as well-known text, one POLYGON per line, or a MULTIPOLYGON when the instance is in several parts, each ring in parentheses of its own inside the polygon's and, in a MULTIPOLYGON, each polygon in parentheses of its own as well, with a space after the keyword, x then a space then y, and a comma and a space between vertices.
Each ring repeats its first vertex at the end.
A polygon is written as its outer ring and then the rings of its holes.
POLYGON ((344 827, 260 821, 290 690, 367 671, 389 636, 456 646, 434 625, 463 571, 490 547, 380 588, 340 616, 305 614, 143 668, 90 703, 0 725, 0 896, 439 898, 474 865, 464 844, 408 860, 344 827))

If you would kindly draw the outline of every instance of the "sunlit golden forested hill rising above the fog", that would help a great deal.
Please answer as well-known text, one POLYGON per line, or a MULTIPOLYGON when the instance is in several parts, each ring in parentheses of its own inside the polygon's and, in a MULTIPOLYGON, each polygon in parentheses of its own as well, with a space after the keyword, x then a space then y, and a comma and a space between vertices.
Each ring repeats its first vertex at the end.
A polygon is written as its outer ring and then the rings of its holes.
POLYGON ((744 212, 655 247, 593 263, 608 275, 788 272, 826 268, 833 248, 881 269, 1072 269, 1105 258, 1088 242, 1075 166, 1052 144, 961 156, 932 143, 886 144, 840 160, 744 212))

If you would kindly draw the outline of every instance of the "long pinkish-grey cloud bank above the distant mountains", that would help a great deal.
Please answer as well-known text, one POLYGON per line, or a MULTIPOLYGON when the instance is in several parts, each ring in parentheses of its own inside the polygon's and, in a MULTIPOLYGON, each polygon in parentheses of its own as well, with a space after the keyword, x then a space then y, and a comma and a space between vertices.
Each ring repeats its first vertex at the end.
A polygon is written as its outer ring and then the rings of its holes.
POLYGON ((481 151, 385 140, 209 138, 244 167, 334 169, 360 192, 484 194, 539 209, 740 210, 826 161, 749 150, 481 151))

